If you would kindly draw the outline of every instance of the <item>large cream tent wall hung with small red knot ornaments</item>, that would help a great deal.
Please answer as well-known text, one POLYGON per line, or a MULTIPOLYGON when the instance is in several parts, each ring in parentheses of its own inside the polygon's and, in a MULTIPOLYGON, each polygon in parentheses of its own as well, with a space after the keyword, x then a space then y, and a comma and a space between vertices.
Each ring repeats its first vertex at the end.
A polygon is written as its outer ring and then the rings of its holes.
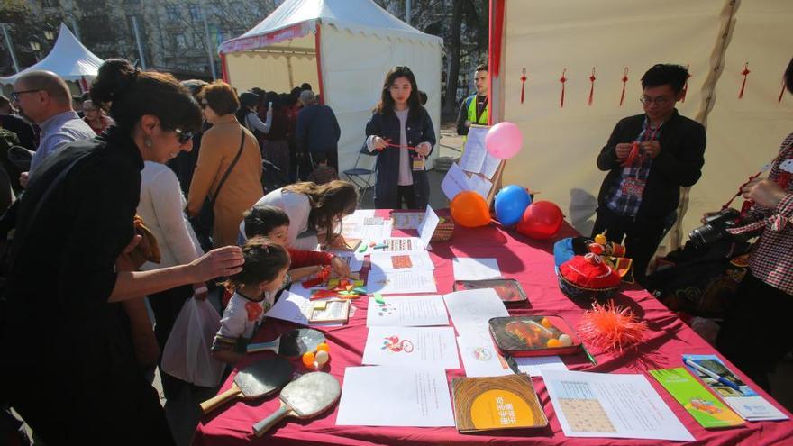
POLYGON ((687 96, 678 109, 707 129, 702 177, 684 191, 684 216, 667 246, 685 241, 702 214, 724 205, 793 132, 793 97, 780 96, 793 43, 789 0, 491 5, 491 116, 494 123, 517 123, 524 133, 524 150, 507 162, 504 182, 541 190, 542 199, 560 205, 582 232, 594 223, 606 175, 597 170, 597 153, 619 119, 643 113, 640 78, 653 64, 688 66, 687 96))

